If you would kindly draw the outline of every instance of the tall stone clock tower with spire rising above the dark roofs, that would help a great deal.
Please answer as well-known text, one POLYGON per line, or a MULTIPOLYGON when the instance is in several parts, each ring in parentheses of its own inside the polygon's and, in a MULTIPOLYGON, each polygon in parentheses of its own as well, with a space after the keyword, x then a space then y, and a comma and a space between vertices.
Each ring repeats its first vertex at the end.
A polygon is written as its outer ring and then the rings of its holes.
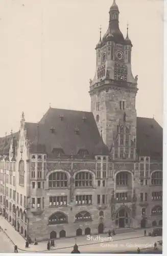
POLYGON ((109 10, 109 27, 96 46, 96 73, 90 79, 91 112, 105 144, 111 150, 120 127, 127 127, 136 143, 137 76, 131 70, 132 43, 119 28, 118 6, 113 1, 109 10))

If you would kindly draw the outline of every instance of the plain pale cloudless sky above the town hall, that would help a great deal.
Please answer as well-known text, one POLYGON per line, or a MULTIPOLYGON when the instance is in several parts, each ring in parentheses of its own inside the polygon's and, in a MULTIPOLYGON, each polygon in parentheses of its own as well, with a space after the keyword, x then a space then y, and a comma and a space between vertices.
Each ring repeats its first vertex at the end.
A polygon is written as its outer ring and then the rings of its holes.
MULTIPOLYGON (((96 44, 113 0, 0 1, 0 137, 18 131, 21 112, 38 122, 52 108, 90 111, 96 44)), ((163 125, 163 2, 116 0, 132 41, 137 116, 163 125)))

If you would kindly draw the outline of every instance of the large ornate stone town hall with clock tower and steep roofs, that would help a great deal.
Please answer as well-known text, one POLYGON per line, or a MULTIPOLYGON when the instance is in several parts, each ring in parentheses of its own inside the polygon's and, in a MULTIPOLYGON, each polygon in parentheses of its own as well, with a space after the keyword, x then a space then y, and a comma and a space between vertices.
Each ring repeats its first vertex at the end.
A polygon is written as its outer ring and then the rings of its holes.
POLYGON ((38 241, 162 225, 162 127, 137 117, 118 6, 96 46, 90 112, 49 108, 0 138, 0 210, 38 241))

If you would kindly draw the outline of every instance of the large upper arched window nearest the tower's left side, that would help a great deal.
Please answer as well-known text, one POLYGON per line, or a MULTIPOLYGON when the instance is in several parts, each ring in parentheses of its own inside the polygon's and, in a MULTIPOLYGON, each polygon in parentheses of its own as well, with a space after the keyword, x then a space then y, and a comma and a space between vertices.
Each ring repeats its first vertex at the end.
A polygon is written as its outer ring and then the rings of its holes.
POLYGON ((80 172, 75 178, 76 187, 91 187, 92 186, 92 175, 89 172, 80 172))

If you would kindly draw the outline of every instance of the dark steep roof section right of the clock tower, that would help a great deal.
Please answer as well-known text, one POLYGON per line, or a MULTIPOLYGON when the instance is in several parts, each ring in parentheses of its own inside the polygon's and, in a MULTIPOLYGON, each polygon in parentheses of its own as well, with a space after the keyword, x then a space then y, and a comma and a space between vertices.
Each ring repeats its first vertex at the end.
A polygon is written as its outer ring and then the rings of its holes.
POLYGON ((141 156, 162 157, 163 130, 154 118, 137 117, 137 153, 141 156))

